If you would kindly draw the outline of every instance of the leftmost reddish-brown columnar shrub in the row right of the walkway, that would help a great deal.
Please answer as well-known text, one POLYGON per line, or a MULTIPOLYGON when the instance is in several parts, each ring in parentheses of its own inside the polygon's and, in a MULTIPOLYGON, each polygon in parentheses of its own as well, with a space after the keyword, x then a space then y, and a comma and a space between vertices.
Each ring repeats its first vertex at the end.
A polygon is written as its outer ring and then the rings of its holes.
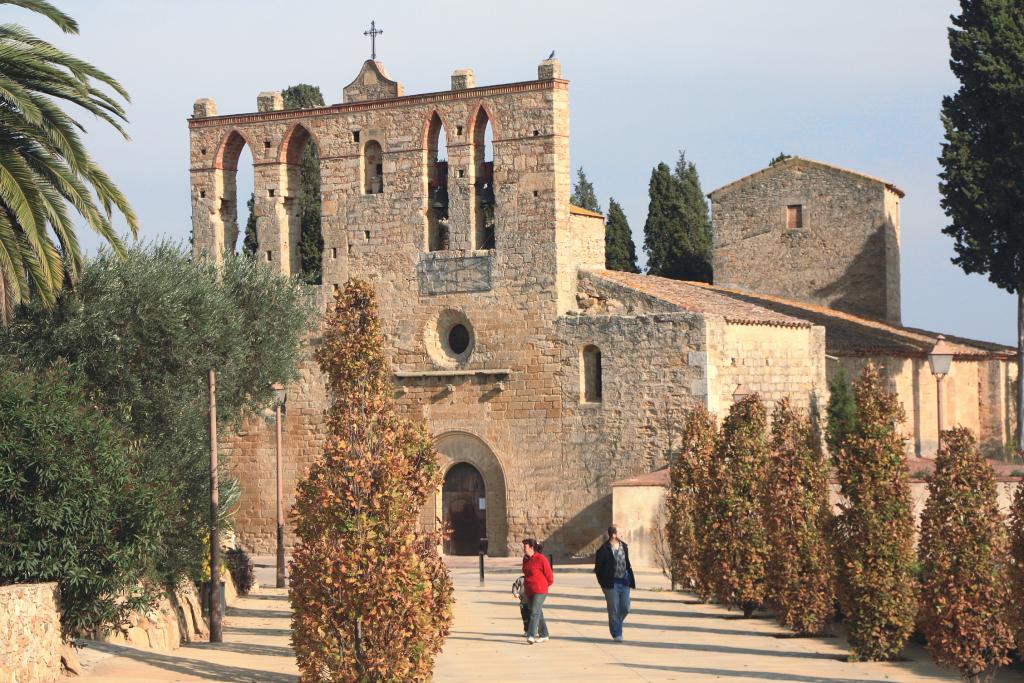
POLYGON ((696 590, 702 597, 710 595, 710 588, 699 570, 702 536, 697 528, 716 432, 715 418, 702 405, 687 413, 682 447, 670 468, 672 483, 667 504, 672 581, 684 589, 696 590))

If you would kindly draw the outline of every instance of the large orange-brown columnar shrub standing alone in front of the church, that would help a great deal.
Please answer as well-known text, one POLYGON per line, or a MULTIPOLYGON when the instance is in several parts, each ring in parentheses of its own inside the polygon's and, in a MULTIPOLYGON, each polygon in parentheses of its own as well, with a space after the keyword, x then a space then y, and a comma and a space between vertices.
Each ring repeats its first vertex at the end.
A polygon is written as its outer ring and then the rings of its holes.
POLYGON ((337 295, 316 359, 334 403, 292 521, 292 643, 302 681, 427 681, 452 621, 440 537, 418 530, 440 484, 433 443, 397 417, 373 290, 337 295))

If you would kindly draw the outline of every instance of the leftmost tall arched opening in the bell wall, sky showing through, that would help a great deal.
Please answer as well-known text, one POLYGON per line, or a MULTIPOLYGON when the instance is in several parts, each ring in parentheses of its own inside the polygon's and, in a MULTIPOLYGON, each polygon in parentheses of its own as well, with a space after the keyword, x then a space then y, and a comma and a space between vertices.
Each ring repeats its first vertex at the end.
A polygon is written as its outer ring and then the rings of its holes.
POLYGON ((243 243, 243 253, 255 256, 259 247, 256 245, 256 216, 253 211, 253 155, 246 139, 237 130, 224 140, 214 162, 219 175, 218 208, 216 225, 214 226, 214 247, 221 255, 234 254, 239 242, 239 198, 246 198, 246 240, 243 243), (239 177, 239 168, 248 169, 239 177), (250 249, 249 226, 252 225, 252 245, 250 249))

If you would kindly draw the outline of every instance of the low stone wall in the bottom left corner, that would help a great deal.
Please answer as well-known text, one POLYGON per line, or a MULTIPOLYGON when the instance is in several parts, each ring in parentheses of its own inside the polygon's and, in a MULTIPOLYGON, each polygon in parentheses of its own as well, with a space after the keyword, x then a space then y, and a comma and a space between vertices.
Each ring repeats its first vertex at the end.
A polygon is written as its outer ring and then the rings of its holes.
POLYGON ((49 683, 60 676, 56 584, 0 587, 0 683, 49 683))

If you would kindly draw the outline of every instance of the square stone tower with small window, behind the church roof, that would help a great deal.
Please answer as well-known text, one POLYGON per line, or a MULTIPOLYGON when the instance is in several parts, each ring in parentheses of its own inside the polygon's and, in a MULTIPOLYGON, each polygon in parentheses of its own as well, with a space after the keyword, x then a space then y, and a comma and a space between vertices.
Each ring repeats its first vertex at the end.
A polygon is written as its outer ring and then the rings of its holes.
POLYGON ((709 197, 716 285, 899 324, 898 187, 793 157, 709 197))

